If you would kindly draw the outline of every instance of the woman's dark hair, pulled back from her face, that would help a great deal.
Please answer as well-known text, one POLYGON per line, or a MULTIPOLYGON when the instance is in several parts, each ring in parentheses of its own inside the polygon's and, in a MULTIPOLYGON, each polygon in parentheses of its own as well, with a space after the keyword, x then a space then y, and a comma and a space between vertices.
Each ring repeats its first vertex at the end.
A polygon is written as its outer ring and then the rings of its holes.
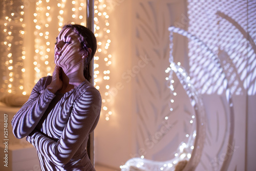
POLYGON ((83 76, 90 81, 91 75, 90 75, 90 62, 93 59, 93 56, 97 50, 97 40, 94 36, 94 33, 81 25, 65 25, 63 26, 63 29, 65 28, 71 28, 75 33, 79 36, 79 41, 81 42, 81 50, 84 52, 87 52, 88 56, 84 60, 84 69, 83 69, 83 76), (92 52, 89 53, 88 48, 92 49, 92 52))

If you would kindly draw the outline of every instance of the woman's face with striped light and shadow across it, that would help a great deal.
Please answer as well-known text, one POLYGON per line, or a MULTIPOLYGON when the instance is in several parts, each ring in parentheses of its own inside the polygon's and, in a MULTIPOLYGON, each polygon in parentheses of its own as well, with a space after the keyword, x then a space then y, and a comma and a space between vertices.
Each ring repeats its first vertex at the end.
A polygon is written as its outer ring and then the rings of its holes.
POLYGON ((71 28, 62 29, 56 37, 54 62, 63 70, 82 62, 81 44, 78 35, 71 28))

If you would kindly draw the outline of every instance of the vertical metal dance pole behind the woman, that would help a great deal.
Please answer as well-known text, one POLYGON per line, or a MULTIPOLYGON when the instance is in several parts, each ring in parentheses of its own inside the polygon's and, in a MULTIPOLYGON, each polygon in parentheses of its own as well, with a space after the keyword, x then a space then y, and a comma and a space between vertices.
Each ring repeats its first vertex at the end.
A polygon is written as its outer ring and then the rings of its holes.
MULTIPOLYGON (((92 32, 94 32, 94 0, 87 0, 87 11, 86 11, 86 27, 88 29, 90 29, 92 32)), ((93 67, 93 59, 90 63, 89 69, 90 69, 90 73, 91 73, 91 84, 94 84, 94 77, 93 77, 93 73, 94 73, 94 67, 93 67)), ((88 156, 91 160, 91 163, 94 166, 94 132, 92 132, 89 135, 89 139, 87 142, 87 153, 88 156)))

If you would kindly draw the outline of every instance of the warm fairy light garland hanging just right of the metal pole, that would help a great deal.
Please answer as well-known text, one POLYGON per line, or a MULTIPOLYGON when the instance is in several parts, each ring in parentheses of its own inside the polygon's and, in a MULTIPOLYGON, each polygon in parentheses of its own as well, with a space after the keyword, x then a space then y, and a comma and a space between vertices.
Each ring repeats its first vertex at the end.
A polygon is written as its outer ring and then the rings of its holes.
MULTIPOLYGON (((102 1, 98 0, 95 1, 94 6, 94 33, 98 40, 98 49, 96 52, 96 55, 94 57, 94 86, 96 89, 98 89, 101 92, 102 97, 102 113, 105 115, 105 120, 109 120, 110 116, 112 115, 112 111, 110 110, 108 103, 110 102, 110 86, 108 82, 110 81, 110 69, 109 66, 112 64, 111 57, 112 55, 109 54, 108 49, 110 47, 111 40, 109 39, 109 33, 110 33, 110 23, 109 23, 109 15, 108 10, 110 8, 107 7, 107 5, 102 1), (100 57, 99 57, 100 56, 100 57), (100 76, 99 71, 99 60, 103 59, 104 61, 102 63, 105 63, 105 66, 101 66, 103 71, 103 80, 100 76), (103 81, 103 83, 102 83, 103 81), (101 84, 104 84, 103 86, 100 86, 101 84)), ((101 63, 101 62, 100 62, 101 63)))

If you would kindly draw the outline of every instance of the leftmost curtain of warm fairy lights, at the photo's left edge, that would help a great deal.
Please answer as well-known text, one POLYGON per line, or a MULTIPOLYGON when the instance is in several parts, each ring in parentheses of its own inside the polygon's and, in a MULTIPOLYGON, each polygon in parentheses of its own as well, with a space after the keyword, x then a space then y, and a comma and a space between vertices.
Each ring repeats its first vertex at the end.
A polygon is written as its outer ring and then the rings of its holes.
POLYGON ((5 1, 4 5, 4 26, 3 26, 3 49, 5 56, 5 68, 3 71, 4 83, 2 84, 1 92, 4 93, 4 89, 8 93, 16 93, 26 95, 24 91, 24 81, 22 79, 25 72, 24 59, 25 49, 23 47, 24 38, 24 6, 16 5, 12 1, 5 1), (15 10, 10 10, 15 9, 15 10), (14 38, 15 37, 15 38, 14 38), (19 48, 17 48, 19 47, 19 48))

